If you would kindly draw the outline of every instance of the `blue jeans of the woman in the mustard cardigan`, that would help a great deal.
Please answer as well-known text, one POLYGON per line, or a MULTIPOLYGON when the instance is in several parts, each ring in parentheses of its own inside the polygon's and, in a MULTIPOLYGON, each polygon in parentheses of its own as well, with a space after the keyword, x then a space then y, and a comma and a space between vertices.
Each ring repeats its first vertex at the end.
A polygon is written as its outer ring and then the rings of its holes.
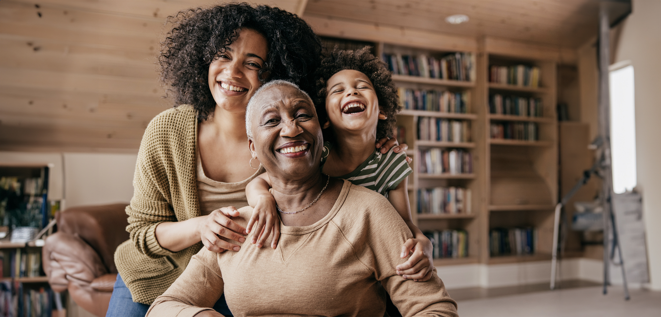
MULTIPOLYGON (((147 314, 147 310, 149 310, 149 305, 133 301, 131 292, 122 281, 122 277, 117 274, 117 281, 115 281, 112 289, 112 297, 110 297, 106 317, 143 317, 147 314)), ((229 308, 227 308, 224 294, 215 302, 214 310, 225 316, 232 316, 229 308)))

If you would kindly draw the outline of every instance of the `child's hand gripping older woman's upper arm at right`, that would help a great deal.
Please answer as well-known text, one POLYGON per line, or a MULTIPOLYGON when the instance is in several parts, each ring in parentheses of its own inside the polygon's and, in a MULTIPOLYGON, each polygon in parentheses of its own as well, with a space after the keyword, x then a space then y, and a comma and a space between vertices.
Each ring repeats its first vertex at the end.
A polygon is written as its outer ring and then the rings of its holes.
POLYGON ((427 239, 411 238, 402 245, 401 258, 406 258, 410 252, 411 257, 407 262, 397 265, 397 275, 403 275, 404 279, 412 279, 416 282, 428 281, 432 278, 432 269, 434 269, 434 260, 432 252, 434 246, 427 239))

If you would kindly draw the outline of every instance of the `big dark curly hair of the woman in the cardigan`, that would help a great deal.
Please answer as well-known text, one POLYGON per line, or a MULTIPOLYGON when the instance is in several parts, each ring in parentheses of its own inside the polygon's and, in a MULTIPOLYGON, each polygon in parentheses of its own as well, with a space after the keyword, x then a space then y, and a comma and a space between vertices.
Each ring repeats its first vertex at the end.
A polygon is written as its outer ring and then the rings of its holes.
POLYGON ((230 3, 182 11, 168 22, 173 28, 161 43, 161 81, 174 95, 175 105, 191 104, 198 110, 198 120, 206 120, 215 109, 208 83, 209 65, 243 28, 255 30, 268 42, 260 78, 268 72, 268 80, 287 79, 303 90, 314 85, 321 41, 292 13, 266 5, 230 3))

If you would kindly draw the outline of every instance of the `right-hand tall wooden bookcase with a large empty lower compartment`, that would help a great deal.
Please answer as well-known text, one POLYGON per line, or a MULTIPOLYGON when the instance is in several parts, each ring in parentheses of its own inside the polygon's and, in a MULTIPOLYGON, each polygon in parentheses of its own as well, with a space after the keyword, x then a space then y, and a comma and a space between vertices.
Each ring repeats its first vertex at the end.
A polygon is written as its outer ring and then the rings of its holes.
MULTIPOLYGON (((556 107, 555 61, 525 51, 490 46, 480 57, 482 77, 479 78, 479 98, 485 126, 486 205, 481 263, 510 264, 551 259, 553 240, 553 210, 558 199, 558 130, 556 107), (523 87, 489 83, 491 65, 528 65, 539 67, 539 86, 523 87), (522 96, 541 100, 543 117, 512 116, 489 113, 492 94, 522 96), (490 123, 533 122, 537 124, 539 141, 491 139, 490 123), (490 230, 494 228, 533 227, 536 230, 535 253, 525 255, 490 255, 490 230)), ((479 106, 478 106, 479 107, 479 106)), ((480 123, 477 123, 480 124, 480 123)))

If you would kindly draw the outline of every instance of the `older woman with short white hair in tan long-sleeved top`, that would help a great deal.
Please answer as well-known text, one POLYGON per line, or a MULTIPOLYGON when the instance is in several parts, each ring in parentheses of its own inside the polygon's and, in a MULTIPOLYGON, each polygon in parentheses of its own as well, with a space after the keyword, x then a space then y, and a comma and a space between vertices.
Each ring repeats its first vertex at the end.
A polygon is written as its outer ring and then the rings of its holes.
MULTIPOLYGON (((234 316, 383 316, 383 289, 403 316, 457 315, 435 270, 416 283, 392 269, 404 261, 393 250, 412 234, 389 201, 321 173, 321 127, 305 92, 267 83, 246 116, 250 151, 282 211, 278 248, 203 248, 147 316, 222 316, 207 307, 223 292, 234 316)), ((252 207, 239 213, 243 225, 252 207)))

